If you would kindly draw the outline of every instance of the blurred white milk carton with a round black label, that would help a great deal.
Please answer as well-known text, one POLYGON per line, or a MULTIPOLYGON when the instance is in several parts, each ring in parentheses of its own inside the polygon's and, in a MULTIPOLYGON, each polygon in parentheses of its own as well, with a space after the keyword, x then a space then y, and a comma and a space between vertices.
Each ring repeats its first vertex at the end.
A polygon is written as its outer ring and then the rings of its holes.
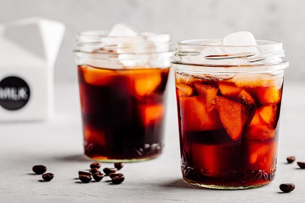
POLYGON ((0 121, 54 113, 54 63, 65 27, 43 18, 0 24, 0 121))

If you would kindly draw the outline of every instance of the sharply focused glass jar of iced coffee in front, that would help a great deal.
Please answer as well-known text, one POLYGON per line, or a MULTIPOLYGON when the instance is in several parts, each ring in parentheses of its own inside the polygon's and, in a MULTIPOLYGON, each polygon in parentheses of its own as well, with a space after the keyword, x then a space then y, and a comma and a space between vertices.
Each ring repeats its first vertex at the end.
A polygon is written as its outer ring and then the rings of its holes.
POLYGON ((175 85, 183 178, 192 185, 244 189, 276 172, 284 69, 282 43, 177 44, 175 85))

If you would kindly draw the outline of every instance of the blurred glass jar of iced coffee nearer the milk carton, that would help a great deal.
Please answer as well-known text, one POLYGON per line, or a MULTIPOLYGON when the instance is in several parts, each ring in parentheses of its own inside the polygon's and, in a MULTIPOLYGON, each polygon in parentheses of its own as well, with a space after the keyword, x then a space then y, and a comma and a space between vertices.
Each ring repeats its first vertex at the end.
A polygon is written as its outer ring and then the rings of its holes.
POLYGON ((164 146, 165 88, 170 36, 77 37, 85 155, 101 162, 134 162, 164 146))

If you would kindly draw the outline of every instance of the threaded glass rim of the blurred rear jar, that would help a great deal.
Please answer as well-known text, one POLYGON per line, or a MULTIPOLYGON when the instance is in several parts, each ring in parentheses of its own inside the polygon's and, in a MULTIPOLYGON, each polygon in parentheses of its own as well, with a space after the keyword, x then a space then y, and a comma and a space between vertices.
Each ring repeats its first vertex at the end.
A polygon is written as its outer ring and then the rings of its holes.
POLYGON ((78 33, 74 52, 102 55, 147 55, 171 51, 171 36, 168 33, 140 33, 129 37, 108 36, 108 33, 107 30, 78 33))

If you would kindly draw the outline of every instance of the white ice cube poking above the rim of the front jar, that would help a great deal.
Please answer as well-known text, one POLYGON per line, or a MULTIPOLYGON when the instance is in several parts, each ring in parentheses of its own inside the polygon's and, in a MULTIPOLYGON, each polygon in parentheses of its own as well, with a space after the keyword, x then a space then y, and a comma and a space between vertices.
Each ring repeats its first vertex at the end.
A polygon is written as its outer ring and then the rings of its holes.
POLYGON ((255 46, 257 45, 254 36, 248 31, 231 33, 224 37, 224 46, 255 46))

